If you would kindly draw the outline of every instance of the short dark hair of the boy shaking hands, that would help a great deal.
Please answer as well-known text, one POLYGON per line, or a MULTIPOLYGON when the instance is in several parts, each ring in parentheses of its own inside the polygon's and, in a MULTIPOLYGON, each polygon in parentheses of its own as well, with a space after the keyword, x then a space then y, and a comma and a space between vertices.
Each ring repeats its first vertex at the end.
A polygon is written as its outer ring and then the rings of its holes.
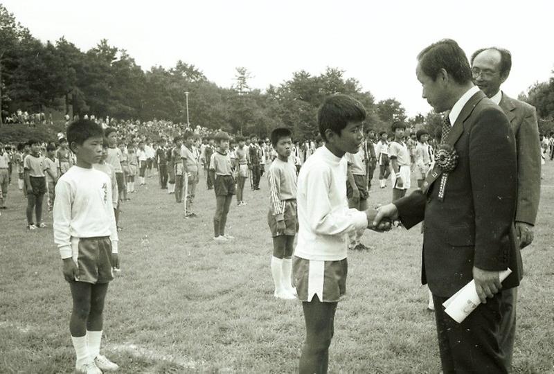
POLYGON ((337 94, 329 96, 323 102, 317 113, 317 123, 319 134, 324 141, 326 130, 331 130, 335 134, 341 134, 341 130, 350 122, 361 122, 366 119, 366 109, 364 105, 347 95, 337 94))

